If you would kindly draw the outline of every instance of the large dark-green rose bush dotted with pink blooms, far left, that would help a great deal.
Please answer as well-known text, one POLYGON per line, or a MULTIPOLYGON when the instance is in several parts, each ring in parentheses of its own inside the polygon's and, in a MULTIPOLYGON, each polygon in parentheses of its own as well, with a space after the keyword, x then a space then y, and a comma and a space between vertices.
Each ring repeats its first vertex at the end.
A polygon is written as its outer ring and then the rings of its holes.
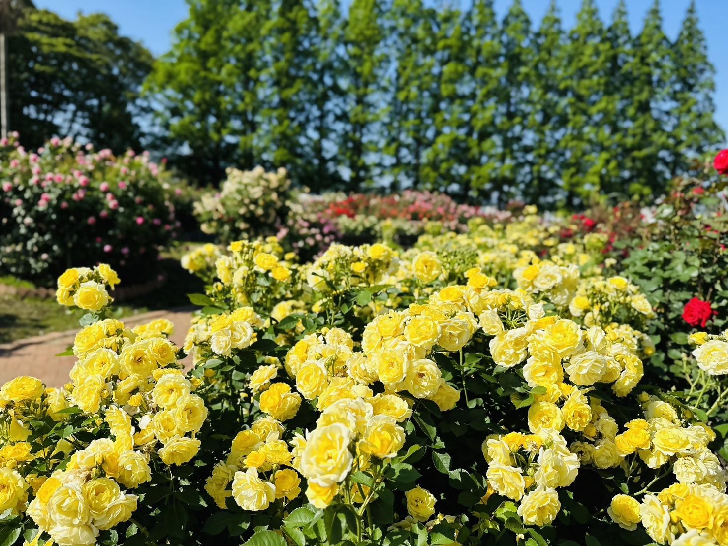
MULTIPOLYGON (((177 226, 170 174, 148 155, 115 157, 70 139, 0 143, 0 272, 50 283, 74 263, 106 261, 135 280, 177 226)), ((148 271, 147 271, 148 273, 148 271)))

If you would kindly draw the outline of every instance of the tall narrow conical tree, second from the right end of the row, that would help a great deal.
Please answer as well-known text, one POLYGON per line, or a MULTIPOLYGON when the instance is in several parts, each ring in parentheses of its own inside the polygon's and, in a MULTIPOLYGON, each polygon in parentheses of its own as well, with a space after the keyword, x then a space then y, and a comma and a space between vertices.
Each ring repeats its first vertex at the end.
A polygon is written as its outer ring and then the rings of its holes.
POLYGON ((670 156, 670 81, 673 55, 662 32, 660 1, 654 0, 641 33, 635 41, 632 62, 626 69, 632 75, 627 92, 627 169, 631 194, 660 194, 668 172, 670 156))

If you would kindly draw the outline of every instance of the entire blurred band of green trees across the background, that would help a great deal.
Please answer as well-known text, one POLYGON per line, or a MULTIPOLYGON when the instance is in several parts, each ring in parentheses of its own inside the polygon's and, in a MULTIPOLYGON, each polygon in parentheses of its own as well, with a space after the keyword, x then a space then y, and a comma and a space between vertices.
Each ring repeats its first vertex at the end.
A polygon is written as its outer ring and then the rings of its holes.
POLYGON ((658 0, 635 36, 625 1, 604 23, 583 0, 568 30, 557 0, 537 23, 521 0, 501 20, 494 0, 186 1, 153 62, 106 16, 11 0, 10 128, 151 145, 198 183, 262 165, 545 207, 660 194, 724 139, 694 2, 670 41, 658 0))

